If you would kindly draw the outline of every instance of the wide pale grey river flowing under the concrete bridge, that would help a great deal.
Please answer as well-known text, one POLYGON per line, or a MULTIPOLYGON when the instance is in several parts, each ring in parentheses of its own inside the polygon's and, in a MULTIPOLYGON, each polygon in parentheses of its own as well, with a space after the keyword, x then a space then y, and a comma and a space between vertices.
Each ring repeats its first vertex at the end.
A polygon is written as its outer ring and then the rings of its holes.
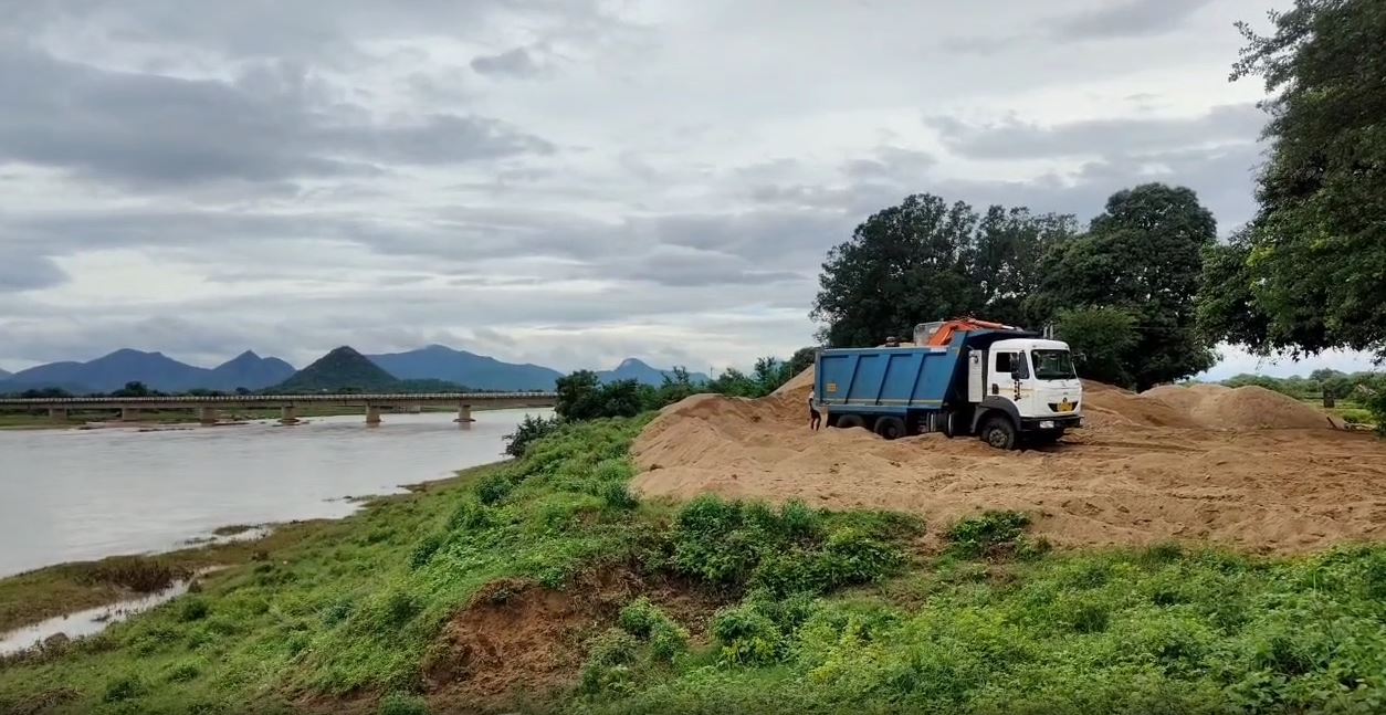
POLYGON ((348 497, 503 459, 525 413, 315 417, 245 425, 0 431, 0 576, 176 549, 230 524, 335 518, 348 497))

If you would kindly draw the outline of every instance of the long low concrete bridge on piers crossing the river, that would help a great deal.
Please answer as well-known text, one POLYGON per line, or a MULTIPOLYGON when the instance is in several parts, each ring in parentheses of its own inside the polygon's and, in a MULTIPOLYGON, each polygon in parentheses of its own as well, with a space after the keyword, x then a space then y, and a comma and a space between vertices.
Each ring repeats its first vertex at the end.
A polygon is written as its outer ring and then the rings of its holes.
POLYGON ((378 395, 223 395, 215 398, 0 398, 0 410, 49 410, 54 420, 67 420, 68 410, 119 410, 121 420, 139 420, 140 410, 193 410, 202 424, 216 424, 220 410, 279 409, 280 423, 298 421, 297 410, 308 406, 360 407, 366 424, 380 424, 381 409, 414 410, 444 406, 457 410, 457 421, 468 424, 473 409, 553 407, 556 392, 427 392, 378 395))

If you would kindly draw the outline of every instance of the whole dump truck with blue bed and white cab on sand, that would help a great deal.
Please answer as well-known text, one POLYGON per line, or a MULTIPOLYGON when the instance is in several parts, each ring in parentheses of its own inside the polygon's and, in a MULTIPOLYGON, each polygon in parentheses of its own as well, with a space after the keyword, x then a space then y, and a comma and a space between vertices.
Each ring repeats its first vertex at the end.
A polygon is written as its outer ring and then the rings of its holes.
POLYGON ((821 351, 814 395, 829 427, 886 439, 942 432, 1016 449, 1082 424, 1067 344, 970 317, 922 323, 911 344, 821 351))

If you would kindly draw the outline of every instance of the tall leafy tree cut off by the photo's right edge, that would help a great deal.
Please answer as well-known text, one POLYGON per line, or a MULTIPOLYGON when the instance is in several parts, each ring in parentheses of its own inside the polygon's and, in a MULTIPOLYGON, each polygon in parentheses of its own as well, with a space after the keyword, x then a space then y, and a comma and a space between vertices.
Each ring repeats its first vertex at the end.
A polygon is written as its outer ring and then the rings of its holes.
POLYGON ((1240 26, 1232 72, 1272 94, 1261 211, 1213 266, 1200 320, 1263 353, 1386 355, 1386 3, 1296 0, 1271 19, 1270 36, 1240 26), (1250 301, 1218 302, 1224 291, 1250 301), (1247 319, 1256 330, 1240 330, 1247 319))

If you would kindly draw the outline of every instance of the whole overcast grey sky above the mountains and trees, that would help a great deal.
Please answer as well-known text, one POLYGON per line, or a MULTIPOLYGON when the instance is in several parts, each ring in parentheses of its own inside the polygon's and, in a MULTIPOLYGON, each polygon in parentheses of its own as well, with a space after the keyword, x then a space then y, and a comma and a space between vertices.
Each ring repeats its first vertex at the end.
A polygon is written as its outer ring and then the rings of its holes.
POLYGON ((722 367, 809 344, 825 252, 909 193, 1161 180, 1225 234, 1267 3, 0 0, 0 367, 722 367))

